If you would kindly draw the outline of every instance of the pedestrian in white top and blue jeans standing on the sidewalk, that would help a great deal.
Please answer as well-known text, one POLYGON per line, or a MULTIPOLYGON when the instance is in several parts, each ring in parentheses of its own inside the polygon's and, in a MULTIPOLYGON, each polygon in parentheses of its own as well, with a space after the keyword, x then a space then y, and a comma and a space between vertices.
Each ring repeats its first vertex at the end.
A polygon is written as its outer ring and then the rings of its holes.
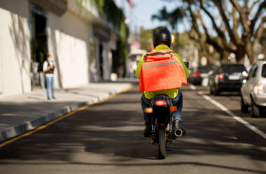
POLYGON ((52 56, 48 55, 47 60, 43 62, 43 72, 45 73, 48 101, 55 101, 54 70, 55 70, 55 65, 54 65, 54 62, 52 61, 52 56), (52 89, 52 99, 50 99, 50 95, 49 95, 50 87, 52 89))

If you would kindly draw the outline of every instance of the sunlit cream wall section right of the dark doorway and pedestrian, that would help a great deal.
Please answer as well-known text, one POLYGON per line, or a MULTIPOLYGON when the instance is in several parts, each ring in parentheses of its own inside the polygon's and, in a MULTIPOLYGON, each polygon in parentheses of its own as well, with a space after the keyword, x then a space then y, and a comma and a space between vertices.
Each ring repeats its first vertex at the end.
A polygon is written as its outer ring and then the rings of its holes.
POLYGON ((67 11, 48 15, 48 50, 55 59, 55 87, 76 87, 90 82, 90 23, 67 11))

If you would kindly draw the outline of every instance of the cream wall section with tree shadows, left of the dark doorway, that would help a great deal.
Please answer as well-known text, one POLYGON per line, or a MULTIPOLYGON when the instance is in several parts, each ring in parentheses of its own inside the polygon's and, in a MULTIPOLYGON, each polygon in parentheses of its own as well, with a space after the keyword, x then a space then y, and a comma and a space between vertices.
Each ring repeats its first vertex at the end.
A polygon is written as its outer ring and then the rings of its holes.
POLYGON ((29 7, 0 0, 0 97, 31 91, 29 7))

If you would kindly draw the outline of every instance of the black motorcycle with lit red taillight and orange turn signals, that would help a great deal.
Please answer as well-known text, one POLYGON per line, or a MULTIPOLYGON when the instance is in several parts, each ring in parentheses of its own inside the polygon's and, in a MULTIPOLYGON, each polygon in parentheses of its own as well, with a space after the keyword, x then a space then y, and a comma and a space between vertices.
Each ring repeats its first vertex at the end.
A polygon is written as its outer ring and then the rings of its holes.
MULTIPOLYGON (((184 62, 188 68, 189 63, 184 62)), ((183 136, 181 129, 174 130, 174 111, 176 106, 173 106, 171 97, 167 95, 157 95, 150 101, 150 108, 146 108, 146 113, 151 113, 151 144, 158 145, 159 159, 166 158, 167 144, 172 143, 176 138, 183 136)))

